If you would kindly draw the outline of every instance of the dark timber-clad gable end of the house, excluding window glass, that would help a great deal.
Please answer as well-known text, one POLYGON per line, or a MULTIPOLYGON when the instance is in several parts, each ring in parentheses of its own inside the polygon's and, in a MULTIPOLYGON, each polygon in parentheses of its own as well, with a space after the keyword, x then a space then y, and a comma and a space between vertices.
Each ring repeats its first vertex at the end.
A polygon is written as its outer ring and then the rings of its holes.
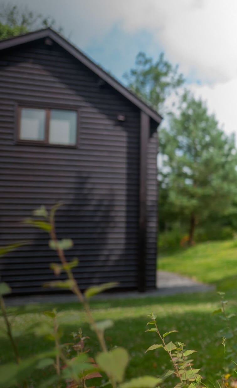
POLYGON ((41 286, 54 280, 57 256, 45 232, 21 221, 62 201, 57 234, 74 241, 66 253, 80 260, 82 289, 107 281, 155 288, 161 117, 51 29, 0 50, 0 246, 31 240, 1 259, 1 281, 13 293, 51 291, 41 286), (76 145, 19 141, 17 112, 28 107, 78 112, 76 145))

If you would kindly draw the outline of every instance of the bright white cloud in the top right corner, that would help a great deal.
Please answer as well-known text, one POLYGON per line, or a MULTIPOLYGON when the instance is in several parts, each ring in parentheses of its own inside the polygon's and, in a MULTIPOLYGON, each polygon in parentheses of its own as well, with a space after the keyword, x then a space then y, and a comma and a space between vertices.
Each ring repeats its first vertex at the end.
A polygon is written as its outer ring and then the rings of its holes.
POLYGON ((123 28, 151 31, 184 73, 193 69, 202 79, 221 81, 237 76, 235 0, 130 0, 126 4, 123 28))

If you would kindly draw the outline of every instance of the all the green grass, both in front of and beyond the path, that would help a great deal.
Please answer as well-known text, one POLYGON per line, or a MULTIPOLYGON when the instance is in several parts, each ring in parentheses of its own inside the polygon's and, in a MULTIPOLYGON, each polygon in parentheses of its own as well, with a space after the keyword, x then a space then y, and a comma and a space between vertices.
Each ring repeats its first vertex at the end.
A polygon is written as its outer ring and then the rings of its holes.
MULTIPOLYGON (((229 301, 228 312, 235 313, 237 310, 236 257, 235 242, 206 242, 163 255, 159 260, 159 268, 216 284, 219 290, 226 290, 226 299, 229 301)), ((43 311, 52 310, 54 307, 57 308, 57 320, 63 331, 61 343, 71 342, 71 333, 81 327, 83 334, 90 337, 86 342, 90 354, 95 355, 99 352, 98 341, 78 303, 8 307, 12 330, 22 359, 54 346, 53 342, 37 335, 35 331, 35 327, 40 324, 51 322, 43 311)), ((218 315, 211 314, 218 307, 220 307, 219 297, 215 292, 159 298, 95 300, 91 303, 92 314, 96 320, 112 319, 114 322, 114 326, 107 329, 105 333, 108 348, 124 346, 130 354, 126 379, 142 375, 159 376, 164 370, 171 368, 168 355, 162 349, 145 353, 149 346, 160 342, 156 333, 145 333, 146 323, 149 320, 147 315, 153 311, 157 315, 157 325, 161 333, 178 330, 178 333, 170 334, 166 338, 167 342, 181 341, 186 344, 187 349, 197 351, 193 357, 194 367, 201 368, 200 373, 208 386, 211 386, 209 381, 215 383, 220 377, 224 365, 222 336, 225 335, 225 322, 218 315), (221 336, 218 335, 220 329, 224 329, 221 336)), ((227 352, 233 344, 233 338, 226 340, 227 352)), ((0 315, 0 364, 5 364, 12 359, 13 352, 0 315)), ((52 372, 52 366, 47 367, 43 372, 36 371, 31 376, 31 386, 37 387, 38 383, 50 376, 52 372)), ((173 385, 172 378, 164 384, 165 387, 173 385)))

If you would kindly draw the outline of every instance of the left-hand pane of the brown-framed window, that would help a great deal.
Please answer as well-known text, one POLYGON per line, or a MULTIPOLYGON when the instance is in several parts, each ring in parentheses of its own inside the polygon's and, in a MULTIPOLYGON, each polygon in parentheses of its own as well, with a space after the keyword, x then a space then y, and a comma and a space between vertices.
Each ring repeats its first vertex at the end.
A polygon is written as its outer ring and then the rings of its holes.
POLYGON ((44 140, 45 139, 45 110, 44 109, 21 109, 21 140, 44 140))

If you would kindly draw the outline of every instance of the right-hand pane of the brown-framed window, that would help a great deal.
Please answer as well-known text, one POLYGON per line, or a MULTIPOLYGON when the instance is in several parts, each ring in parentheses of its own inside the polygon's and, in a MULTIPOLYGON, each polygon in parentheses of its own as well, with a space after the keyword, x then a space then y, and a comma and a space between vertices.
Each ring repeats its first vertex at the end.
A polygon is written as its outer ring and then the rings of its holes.
POLYGON ((76 144, 76 112, 51 109, 49 142, 51 144, 76 144))

